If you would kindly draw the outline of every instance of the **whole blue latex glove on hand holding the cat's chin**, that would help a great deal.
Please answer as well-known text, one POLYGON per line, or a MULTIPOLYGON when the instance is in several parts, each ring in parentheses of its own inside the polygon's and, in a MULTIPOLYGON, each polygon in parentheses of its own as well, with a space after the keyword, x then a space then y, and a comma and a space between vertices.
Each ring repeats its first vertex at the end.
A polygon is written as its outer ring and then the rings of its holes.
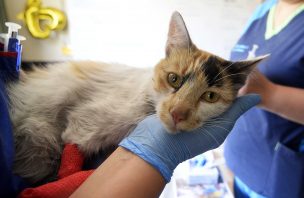
POLYGON ((211 124, 178 134, 169 134, 156 115, 148 116, 119 146, 147 161, 169 182, 179 163, 220 146, 236 120, 259 102, 255 94, 239 97, 211 124))

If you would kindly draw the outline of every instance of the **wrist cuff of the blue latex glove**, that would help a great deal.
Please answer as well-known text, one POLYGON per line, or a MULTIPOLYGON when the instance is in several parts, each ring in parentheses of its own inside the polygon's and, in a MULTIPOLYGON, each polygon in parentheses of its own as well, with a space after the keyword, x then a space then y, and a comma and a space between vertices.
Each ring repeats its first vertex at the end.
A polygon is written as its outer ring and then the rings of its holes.
POLYGON ((135 155, 148 162, 161 173, 167 183, 170 182, 173 172, 166 164, 160 160, 160 158, 157 157, 156 154, 144 148, 141 144, 137 144, 136 142, 129 140, 129 138, 122 140, 119 143, 119 146, 131 151, 135 155))

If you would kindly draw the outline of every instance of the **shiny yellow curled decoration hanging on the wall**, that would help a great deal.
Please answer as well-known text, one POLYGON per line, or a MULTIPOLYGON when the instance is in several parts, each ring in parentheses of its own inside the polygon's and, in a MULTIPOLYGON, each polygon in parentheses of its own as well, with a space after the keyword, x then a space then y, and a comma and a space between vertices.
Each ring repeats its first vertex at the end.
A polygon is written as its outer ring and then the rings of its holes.
POLYGON ((39 39, 48 38, 52 31, 63 30, 67 23, 62 11, 42 7, 41 0, 28 0, 26 10, 18 18, 24 20, 31 35, 39 39))

